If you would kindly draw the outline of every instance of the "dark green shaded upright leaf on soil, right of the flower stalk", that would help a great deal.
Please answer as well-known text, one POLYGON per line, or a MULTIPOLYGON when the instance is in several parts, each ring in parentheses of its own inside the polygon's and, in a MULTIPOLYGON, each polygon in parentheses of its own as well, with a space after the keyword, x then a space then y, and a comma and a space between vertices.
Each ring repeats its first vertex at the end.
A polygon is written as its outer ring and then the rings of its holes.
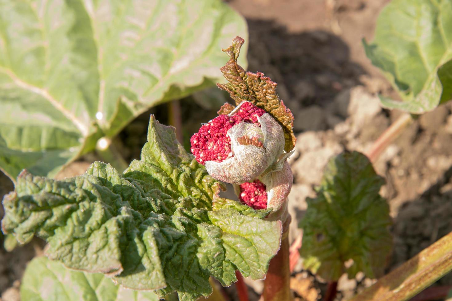
POLYGON ((344 272, 352 278, 358 271, 371 278, 382 275, 392 245, 389 206, 379 194, 383 184, 362 153, 330 159, 300 222, 306 269, 333 281, 344 272), (353 264, 346 268, 350 259, 353 264))

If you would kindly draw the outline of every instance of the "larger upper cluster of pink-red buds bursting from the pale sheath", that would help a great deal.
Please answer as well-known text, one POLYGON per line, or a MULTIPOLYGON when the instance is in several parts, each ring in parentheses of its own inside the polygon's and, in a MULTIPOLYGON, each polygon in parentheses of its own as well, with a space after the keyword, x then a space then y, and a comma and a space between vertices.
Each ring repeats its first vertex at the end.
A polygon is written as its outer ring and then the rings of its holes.
POLYGON ((202 125, 190 139, 190 150, 196 161, 204 164, 206 161, 222 162, 227 157, 232 157, 231 138, 226 135, 227 131, 242 121, 258 123, 257 117, 264 113, 263 109, 245 102, 232 116, 220 115, 202 125))

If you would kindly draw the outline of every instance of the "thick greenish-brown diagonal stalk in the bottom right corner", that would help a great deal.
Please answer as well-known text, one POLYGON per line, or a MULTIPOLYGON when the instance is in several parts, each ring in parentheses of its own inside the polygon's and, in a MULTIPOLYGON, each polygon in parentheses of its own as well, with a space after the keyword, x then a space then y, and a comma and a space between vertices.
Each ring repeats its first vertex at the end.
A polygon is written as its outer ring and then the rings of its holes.
POLYGON ((452 270, 452 232, 419 252, 352 300, 408 300, 452 270))

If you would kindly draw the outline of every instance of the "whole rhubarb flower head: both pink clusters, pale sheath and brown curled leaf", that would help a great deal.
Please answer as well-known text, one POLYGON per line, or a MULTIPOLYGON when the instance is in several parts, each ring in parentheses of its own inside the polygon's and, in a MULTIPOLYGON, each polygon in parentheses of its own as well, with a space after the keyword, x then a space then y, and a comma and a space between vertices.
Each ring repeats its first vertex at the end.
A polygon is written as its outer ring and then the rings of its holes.
POLYGON ((297 140, 293 115, 278 97, 277 83, 237 63, 244 42, 236 37, 223 50, 230 58, 221 68, 228 83, 217 84, 235 106, 225 103, 218 117, 193 134, 191 152, 213 178, 234 184, 244 204, 273 208, 273 218, 285 221, 293 181, 287 157, 297 140))

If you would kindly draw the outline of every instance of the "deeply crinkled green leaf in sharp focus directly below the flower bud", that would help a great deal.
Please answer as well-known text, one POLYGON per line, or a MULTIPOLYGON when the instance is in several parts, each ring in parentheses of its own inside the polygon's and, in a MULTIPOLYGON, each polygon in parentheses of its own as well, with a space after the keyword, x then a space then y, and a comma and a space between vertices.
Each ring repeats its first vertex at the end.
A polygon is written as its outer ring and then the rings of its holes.
POLYGON ((209 276, 225 286, 236 269, 264 278, 279 248, 281 222, 218 198, 222 187, 151 116, 141 160, 123 175, 102 162, 62 181, 22 172, 3 200, 2 228, 19 242, 44 238, 47 256, 71 269, 194 300, 210 294, 209 276))

